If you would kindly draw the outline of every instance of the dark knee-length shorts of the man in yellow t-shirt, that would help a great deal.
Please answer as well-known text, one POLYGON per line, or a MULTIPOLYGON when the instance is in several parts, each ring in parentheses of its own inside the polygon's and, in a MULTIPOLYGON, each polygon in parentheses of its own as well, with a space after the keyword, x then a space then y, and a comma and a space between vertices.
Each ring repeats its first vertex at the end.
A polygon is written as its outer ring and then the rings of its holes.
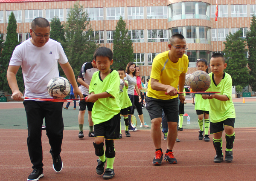
POLYGON ((154 118, 162 118, 162 112, 164 112, 167 122, 178 122, 178 98, 162 100, 148 97, 146 105, 151 120, 154 118))

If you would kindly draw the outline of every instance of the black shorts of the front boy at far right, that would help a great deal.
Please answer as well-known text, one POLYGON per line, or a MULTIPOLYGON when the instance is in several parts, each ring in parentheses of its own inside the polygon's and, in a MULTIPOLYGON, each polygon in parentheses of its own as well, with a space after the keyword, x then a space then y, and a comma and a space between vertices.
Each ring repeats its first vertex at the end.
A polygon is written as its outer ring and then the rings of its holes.
POLYGON ((218 133, 221 131, 224 131, 224 126, 230 126, 233 127, 235 126, 235 118, 227 118, 224 121, 218 122, 218 123, 212 123, 210 122, 210 134, 218 133))

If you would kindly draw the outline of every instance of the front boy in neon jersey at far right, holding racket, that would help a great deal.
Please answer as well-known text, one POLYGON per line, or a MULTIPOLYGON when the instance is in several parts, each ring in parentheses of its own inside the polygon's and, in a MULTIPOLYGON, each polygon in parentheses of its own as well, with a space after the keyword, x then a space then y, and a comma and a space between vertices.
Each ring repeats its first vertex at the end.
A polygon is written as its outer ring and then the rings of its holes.
POLYGON ((216 150, 214 162, 220 163, 223 161, 222 153, 222 131, 226 132, 226 156, 225 161, 231 162, 233 160, 233 142, 235 140, 235 108, 232 101, 232 78, 229 74, 223 72, 227 67, 224 56, 220 53, 212 55, 210 60, 210 67, 212 73, 209 74, 211 78, 211 85, 208 92, 221 92, 215 95, 202 95, 202 98, 209 99, 210 108, 209 115, 210 134, 213 134, 213 145, 216 150))

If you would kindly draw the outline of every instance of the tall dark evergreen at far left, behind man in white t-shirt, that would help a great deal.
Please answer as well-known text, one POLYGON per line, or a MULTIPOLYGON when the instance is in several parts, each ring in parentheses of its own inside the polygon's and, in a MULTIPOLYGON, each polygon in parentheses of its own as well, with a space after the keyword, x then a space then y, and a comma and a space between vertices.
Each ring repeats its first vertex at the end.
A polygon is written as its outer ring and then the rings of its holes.
MULTIPOLYGON (((0 64, 2 65, 3 73, 1 73, 1 80, 0 81, 0 89, 3 91, 11 92, 9 84, 7 82, 6 73, 9 66, 10 59, 12 57, 12 52, 14 51, 15 47, 20 44, 18 41, 17 36, 17 21, 13 12, 11 12, 9 16, 9 23, 7 26, 7 37, 6 41, 3 44, 3 51, 2 56, 0 58, 0 64)), ((20 92, 24 90, 24 81, 23 81, 23 74, 22 70, 19 69, 16 74, 17 83, 20 89, 20 92)))

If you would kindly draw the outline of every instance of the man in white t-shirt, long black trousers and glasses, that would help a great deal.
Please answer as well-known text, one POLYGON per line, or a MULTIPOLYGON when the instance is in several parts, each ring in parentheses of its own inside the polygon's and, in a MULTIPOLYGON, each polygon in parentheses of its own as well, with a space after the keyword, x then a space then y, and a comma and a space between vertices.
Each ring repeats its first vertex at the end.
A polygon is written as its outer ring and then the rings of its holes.
MULTIPOLYGON (((68 63, 67 57, 60 43, 49 39, 50 24, 42 17, 35 18, 31 23, 30 35, 32 38, 16 46, 7 70, 7 80, 12 89, 15 101, 21 101, 23 94, 17 85, 16 74, 22 67, 25 84, 25 95, 31 98, 51 98, 47 91, 47 83, 59 76, 58 63, 63 69, 70 83, 73 85, 75 95, 83 97, 77 86, 76 78, 68 63)), ((61 161, 61 144, 63 139, 63 118, 61 102, 36 101, 26 99, 23 102, 28 124, 27 145, 33 172, 28 181, 43 177, 43 150, 41 126, 45 119, 46 132, 51 146, 52 167, 60 172, 63 167, 61 161)))

